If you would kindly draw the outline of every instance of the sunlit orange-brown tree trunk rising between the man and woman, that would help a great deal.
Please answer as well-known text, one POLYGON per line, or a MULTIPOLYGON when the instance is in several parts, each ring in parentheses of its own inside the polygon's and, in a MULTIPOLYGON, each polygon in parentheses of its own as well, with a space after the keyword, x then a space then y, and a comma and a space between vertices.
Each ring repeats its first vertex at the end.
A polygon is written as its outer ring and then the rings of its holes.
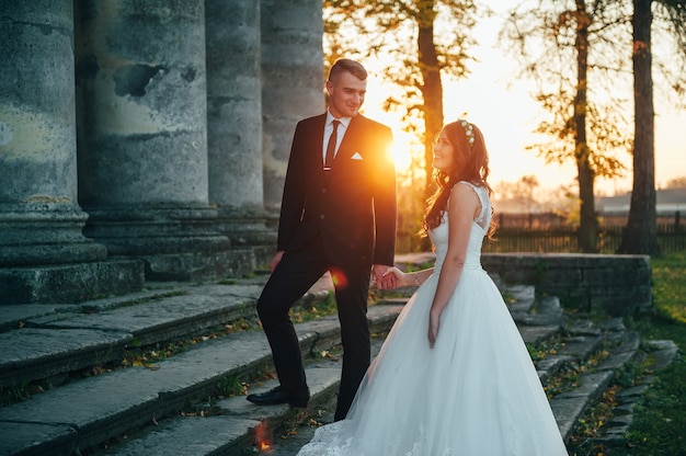
POLYGON ((435 1, 424 2, 420 12, 419 24, 419 64, 422 72, 424 98, 424 163, 426 170, 425 195, 431 194, 433 171, 433 142, 443 127, 443 84, 441 68, 434 44, 435 1))

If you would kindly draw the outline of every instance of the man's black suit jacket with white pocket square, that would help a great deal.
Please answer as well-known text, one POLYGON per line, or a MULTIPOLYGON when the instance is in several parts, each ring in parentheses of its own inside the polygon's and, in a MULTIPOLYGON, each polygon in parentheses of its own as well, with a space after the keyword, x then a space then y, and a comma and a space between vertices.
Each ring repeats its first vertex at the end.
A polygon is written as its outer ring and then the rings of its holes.
POLYGON ((305 246, 317 233, 330 261, 393 264, 396 169, 392 133, 356 115, 330 171, 323 171, 325 114, 298 123, 282 198, 277 249, 305 246))

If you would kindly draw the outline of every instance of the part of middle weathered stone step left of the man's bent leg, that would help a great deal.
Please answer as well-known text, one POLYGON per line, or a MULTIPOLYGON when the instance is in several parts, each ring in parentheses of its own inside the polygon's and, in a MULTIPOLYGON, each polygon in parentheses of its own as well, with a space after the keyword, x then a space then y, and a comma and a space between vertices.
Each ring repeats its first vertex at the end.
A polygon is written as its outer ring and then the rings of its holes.
POLYGON ((214 347, 193 351, 159 363, 159 369, 127 368, 64 385, 30 401, 0 408, 0 422, 68 424, 85 448, 170 413, 190 397, 216 388, 230 372, 270 355, 264 335, 236 334, 214 347))

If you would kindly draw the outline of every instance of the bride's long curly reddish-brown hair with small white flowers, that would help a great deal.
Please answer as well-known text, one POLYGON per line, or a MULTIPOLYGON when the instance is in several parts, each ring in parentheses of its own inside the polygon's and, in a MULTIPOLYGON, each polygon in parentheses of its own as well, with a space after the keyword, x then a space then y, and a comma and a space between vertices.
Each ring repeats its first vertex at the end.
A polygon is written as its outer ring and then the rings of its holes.
MULTIPOLYGON (((450 190, 456 183, 467 181, 478 186, 484 186, 489 196, 493 195, 493 190, 487 181, 490 173, 489 152, 479 127, 459 119, 447 124, 443 129, 455 150, 456 166, 450 170, 434 169, 433 183, 435 190, 426 200, 426 215, 422 224, 423 236, 427 236, 430 229, 441 225, 443 215, 448 208, 450 190)), ((492 212, 493 208, 491 207, 492 212)), ((498 224, 491 217, 491 225, 487 232, 489 239, 493 240, 496 228, 498 224)))

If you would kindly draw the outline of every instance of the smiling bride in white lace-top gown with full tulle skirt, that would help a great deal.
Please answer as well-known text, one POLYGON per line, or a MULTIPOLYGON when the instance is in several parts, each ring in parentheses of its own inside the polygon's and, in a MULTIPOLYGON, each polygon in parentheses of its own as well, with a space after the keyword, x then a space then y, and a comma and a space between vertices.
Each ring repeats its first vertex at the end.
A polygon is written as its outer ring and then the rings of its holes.
POLYGON ((480 263, 491 238, 489 159, 465 119, 434 145, 436 192, 424 231, 432 269, 369 366, 346 418, 319 428, 299 456, 567 455, 550 404, 500 290, 480 263))

